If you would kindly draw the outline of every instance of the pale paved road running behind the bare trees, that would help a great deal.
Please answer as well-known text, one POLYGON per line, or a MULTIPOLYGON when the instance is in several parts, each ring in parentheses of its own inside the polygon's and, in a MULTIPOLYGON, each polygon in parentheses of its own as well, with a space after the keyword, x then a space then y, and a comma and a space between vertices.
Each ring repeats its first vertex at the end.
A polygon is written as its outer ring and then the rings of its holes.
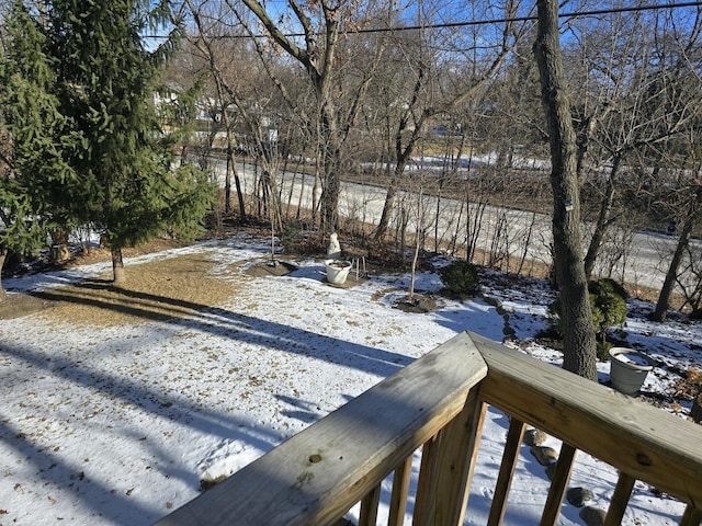
MULTIPOLYGON (((213 168, 224 184, 225 173, 224 161, 215 160, 213 168)), ((242 180, 244 191, 252 193, 254 172, 250 164, 238 165, 242 180)), ((303 207, 312 208, 312 191, 314 178, 301 173, 287 172, 283 178, 282 195, 284 203, 292 190, 292 204, 297 205, 298 201, 303 207)), ((385 191, 383 188, 362 185, 358 183, 342 183, 339 211, 344 218, 356 219, 372 225, 380 221, 385 202, 385 191)), ((414 230, 417 225, 418 198, 416 195, 400 193, 397 203, 404 202, 410 210, 410 226, 414 230)), ((467 239, 466 211, 465 206, 458 201, 424 196, 422 207, 426 210, 424 228, 429 236, 433 237, 434 231, 442 241, 451 240, 454 236, 458 243, 464 243, 467 239), (439 207, 439 226, 434 225, 435 210, 439 207), (456 231, 456 225, 461 225, 456 231)), ((472 205, 472 214, 475 215, 475 205, 472 205)), ((473 216, 475 217, 475 216, 473 216)), ((394 222, 396 224, 397 217, 394 222)), ((521 256, 526 251, 526 260, 550 263, 551 262, 551 217, 543 214, 532 214, 522 210, 499 208, 487 206, 476 221, 478 232, 476 236, 477 248, 488 253, 495 253, 496 243, 501 253, 521 256)), ((587 227, 587 226, 586 226, 587 227)), ((670 253, 675 248, 675 238, 652 232, 637 232, 633 237, 631 233, 613 232, 619 235, 610 249, 605 249, 600 258, 607 261, 607 255, 618 249, 629 248, 624 255, 612 267, 612 277, 624 278, 625 282, 635 287, 659 288, 665 277, 670 253), (623 271, 622 271, 623 268, 623 271)), ((609 267, 598 268, 602 275, 610 273, 609 267)))

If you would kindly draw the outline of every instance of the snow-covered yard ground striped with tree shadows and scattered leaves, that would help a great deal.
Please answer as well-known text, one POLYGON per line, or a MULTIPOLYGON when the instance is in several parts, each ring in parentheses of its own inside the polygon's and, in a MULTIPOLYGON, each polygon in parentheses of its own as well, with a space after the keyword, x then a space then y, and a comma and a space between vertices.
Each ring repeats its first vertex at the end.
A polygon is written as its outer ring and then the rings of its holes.
MULTIPOLYGON (((237 237, 126 262, 194 252, 223 265, 247 262, 240 273, 217 274, 237 282, 236 295, 194 317, 118 327, 57 327, 45 315, 0 320, 0 525, 150 524, 195 498, 202 479, 236 471, 456 332, 503 339, 502 316, 483 299, 442 299, 422 315, 392 308, 407 275, 372 275, 340 289, 325 283, 318 260, 295 261, 298 268, 284 277, 245 274, 267 256, 267 242, 237 237)), ((5 286, 41 289, 107 268, 29 275, 5 286)), ((532 340, 547 323, 552 298, 543 284, 484 282, 524 352, 557 364, 557 353, 532 340)), ((426 273, 417 286, 438 290, 441 282, 426 273)), ((659 361, 644 390, 665 391, 671 371, 701 365, 702 328, 652 324, 646 308, 631 305, 639 315, 627 320, 626 341, 659 361)), ((599 364, 599 374, 607 380, 609 364, 599 364)), ((490 410, 467 525, 486 522, 506 430, 507 418, 490 410)), ((578 455, 570 485, 593 491, 589 505, 607 508, 615 482, 612 468, 578 455)), ((547 484, 524 446, 505 524, 537 524, 547 484)), ((682 510, 637 483, 623 524, 677 524, 682 510)), ((564 504, 559 524, 582 524, 578 512, 564 504)))

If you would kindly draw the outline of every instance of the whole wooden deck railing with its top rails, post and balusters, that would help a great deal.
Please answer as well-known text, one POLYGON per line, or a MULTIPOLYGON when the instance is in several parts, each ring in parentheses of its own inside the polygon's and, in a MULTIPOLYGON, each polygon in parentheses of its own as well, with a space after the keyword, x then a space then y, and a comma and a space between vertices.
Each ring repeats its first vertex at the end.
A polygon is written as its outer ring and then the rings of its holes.
POLYGON ((394 472, 388 524, 401 525, 421 447, 414 524, 458 525, 487 404, 510 415, 488 525, 502 521, 526 423, 563 441, 542 525, 556 524, 578 449, 621 473, 607 526, 621 523, 636 480, 688 504, 680 525, 700 524, 701 426, 467 332, 157 524, 333 525, 359 502, 360 524, 376 524, 394 472))

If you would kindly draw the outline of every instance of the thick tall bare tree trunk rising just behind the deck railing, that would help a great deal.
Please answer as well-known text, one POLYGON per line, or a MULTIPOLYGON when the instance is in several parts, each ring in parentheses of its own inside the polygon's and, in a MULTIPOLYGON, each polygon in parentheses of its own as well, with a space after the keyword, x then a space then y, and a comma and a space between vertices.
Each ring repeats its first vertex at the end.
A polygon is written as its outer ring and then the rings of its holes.
POLYGON ((551 142, 554 266, 562 304, 563 367, 597 380, 597 340, 580 244, 577 146, 563 79, 558 2, 539 0, 536 8, 539 30, 533 49, 551 142))

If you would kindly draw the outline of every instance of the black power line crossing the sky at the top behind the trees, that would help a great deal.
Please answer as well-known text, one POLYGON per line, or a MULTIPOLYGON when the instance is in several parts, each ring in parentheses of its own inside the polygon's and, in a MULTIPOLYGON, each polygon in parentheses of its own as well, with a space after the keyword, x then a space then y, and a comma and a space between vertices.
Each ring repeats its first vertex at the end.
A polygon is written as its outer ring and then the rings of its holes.
MULTIPOLYGON (((558 13, 559 19, 571 19, 571 18, 582 18, 582 16, 597 16, 601 14, 616 14, 616 13, 633 13, 641 11, 659 11, 664 9, 682 9, 682 8, 700 8, 702 7, 702 1, 693 1, 693 2, 679 2, 679 3, 667 3, 667 4, 653 4, 653 5, 634 5, 626 8, 609 8, 609 9, 596 9, 590 11, 573 11, 567 13, 558 13)), ((394 33, 394 32, 403 32, 403 31, 419 31, 419 30, 445 30, 445 28, 455 28, 455 27, 468 27, 475 25, 490 25, 490 24, 506 24, 512 22, 529 22, 537 20, 536 15, 528 15, 528 16, 512 16, 512 18, 503 18, 503 19, 489 19, 489 20, 469 20, 462 22, 446 22, 441 24, 427 24, 427 25, 405 25, 405 26, 396 26, 396 27, 372 27, 372 28, 355 28, 355 30, 347 30, 346 34, 371 34, 371 33, 394 33)), ((286 33, 286 37, 295 38, 306 36, 305 33, 286 33)), ((211 35, 211 38, 269 38, 269 35, 265 34, 257 34, 257 35, 211 35)), ((160 35, 149 35, 147 38, 165 38, 160 35)))

